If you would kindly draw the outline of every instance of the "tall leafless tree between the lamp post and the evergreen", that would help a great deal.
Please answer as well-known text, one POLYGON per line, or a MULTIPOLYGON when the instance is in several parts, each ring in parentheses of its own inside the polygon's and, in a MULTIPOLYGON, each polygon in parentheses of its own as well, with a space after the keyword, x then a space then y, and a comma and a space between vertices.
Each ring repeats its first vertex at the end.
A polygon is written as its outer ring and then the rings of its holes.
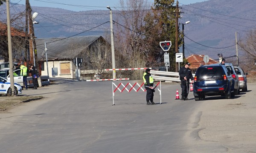
MULTIPOLYGON (((119 52, 124 55, 123 65, 125 68, 145 67, 147 58, 145 50, 145 25, 144 17, 150 10, 147 0, 120 0, 122 10, 119 14, 119 20, 116 21, 117 46, 119 52), (127 63, 126 63, 127 62, 127 63)), ((125 73, 125 72, 123 72, 125 73)), ((140 79, 142 72, 134 71, 130 73, 131 79, 140 79)))

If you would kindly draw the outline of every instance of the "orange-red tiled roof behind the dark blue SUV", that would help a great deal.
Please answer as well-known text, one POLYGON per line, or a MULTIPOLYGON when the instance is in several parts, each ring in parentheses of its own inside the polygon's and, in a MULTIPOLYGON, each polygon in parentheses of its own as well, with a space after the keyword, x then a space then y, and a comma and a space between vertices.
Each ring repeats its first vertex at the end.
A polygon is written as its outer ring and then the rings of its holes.
MULTIPOLYGON (((197 69, 201 65, 205 65, 204 56, 205 55, 191 55, 188 58, 186 58, 188 60, 188 62, 190 63, 189 68, 197 69)), ((207 65, 218 64, 218 63, 219 63, 218 61, 215 61, 212 58, 209 58, 209 62, 207 63, 207 65)))

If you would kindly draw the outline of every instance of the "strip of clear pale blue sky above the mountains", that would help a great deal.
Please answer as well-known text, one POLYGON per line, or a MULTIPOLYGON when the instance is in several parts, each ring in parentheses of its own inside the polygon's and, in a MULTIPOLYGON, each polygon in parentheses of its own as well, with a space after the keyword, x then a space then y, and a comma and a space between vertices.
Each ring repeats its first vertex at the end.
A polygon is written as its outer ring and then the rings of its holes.
MULTIPOLYGON (((180 4, 192 4, 197 2, 204 2, 207 0, 178 0, 180 4)), ((10 0, 11 3, 24 4, 26 0, 10 0)), ((154 3, 154 0, 148 0, 154 3)), ((87 10, 102 10, 110 6, 112 10, 114 7, 119 7, 119 0, 29 0, 31 6, 53 7, 68 9, 72 11, 87 11, 87 10)), ((176 0, 175 0, 176 3, 176 0)))

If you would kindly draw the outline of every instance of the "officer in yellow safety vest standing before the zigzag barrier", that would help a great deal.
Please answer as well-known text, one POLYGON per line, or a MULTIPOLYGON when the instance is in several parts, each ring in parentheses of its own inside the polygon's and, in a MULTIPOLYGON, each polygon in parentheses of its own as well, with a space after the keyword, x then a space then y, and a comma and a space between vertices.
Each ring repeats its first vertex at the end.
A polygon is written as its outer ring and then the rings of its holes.
POLYGON ((147 101, 147 105, 154 105, 154 79, 152 78, 151 74, 150 74, 150 69, 147 68, 146 72, 143 74, 143 81, 144 81, 144 86, 145 89, 147 90, 147 95, 146 95, 146 101, 147 101), (149 102, 150 101, 150 102, 149 102))

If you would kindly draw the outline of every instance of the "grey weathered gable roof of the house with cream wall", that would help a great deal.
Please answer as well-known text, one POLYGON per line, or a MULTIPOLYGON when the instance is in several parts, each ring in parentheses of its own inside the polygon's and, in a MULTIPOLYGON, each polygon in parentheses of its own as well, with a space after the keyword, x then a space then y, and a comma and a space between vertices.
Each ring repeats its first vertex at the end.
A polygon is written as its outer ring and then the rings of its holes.
POLYGON ((73 58, 98 39, 104 40, 102 36, 36 39, 38 59, 40 60, 43 55, 44 43, 46 43, 48 59, 73 58))

